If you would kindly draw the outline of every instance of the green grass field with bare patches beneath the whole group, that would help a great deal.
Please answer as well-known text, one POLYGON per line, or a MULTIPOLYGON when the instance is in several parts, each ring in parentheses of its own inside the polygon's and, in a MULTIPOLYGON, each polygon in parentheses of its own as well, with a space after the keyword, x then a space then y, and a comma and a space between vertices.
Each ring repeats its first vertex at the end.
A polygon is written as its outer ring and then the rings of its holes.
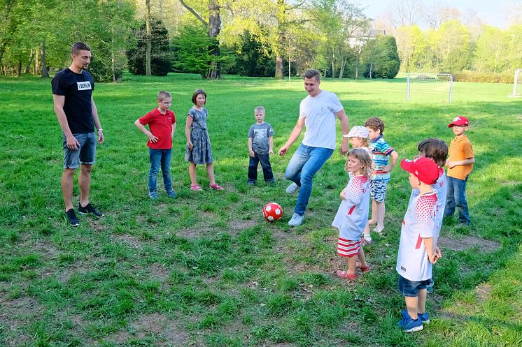
MULTIPOLYGON (((126 75, 97 84, 106 142, 91 201, 106 216, 80 217, 72 228, 50 80, 23 77, 0 78, 0 346, 522 346, 522 99, 507 98, 507 84, 455 83, 451 104, 445 92, 419 95, 414 86, 404 101, 400 79, 321 87, 337 93, 351 126, 381 117, 401 158, 412 158, 423 138, 449 142, 455 115, 470 119, 472 226, 443 227, 444 257, 427 305, 432 323, 422 332, 395 327, 404 307, 395 260, 406 172, 392 172, 385 232, 365 248, 372 271, 355 283, 334 275, 344 261, 330 224, 348 179, 339 152, 316 175, 298 228, 287 225, 297 195, 285 194, 283 177, 297 143, 271 158, 274 186, 246 184, 253 109, 265 106, 280 147, 306 96, 301 80, 126 75), (216 180, 225 191, 188 189, 183 128, 196 88, 209 95, 216 180), (178 116, 171 168, 178 198, 158 189, 153 201, 146 136, 133 123, 161 89, 173 94, 178 116), (270 201, 283 206, 281 221, 262 219, 270 201)), ((198 179, 208 186, 204 168, 198 179)))

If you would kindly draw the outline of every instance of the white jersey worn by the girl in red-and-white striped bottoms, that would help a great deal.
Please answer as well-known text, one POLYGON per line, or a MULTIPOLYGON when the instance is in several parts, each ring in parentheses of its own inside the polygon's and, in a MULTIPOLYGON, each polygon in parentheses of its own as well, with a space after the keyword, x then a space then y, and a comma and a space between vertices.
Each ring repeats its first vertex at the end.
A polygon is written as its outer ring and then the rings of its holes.
POLYGON ((364 175, 351 178, 344 195, 346 200, 341 201, 332 226, 339 229, 339 237, 357 241, 368 220, 369 178, 364 175))

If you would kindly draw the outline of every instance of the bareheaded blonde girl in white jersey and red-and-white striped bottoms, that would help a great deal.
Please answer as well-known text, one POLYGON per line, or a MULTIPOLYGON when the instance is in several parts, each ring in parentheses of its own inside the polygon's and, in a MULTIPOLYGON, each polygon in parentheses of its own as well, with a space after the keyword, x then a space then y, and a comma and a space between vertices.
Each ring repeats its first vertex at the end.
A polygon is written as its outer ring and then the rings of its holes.
POLYGON ((338 270, 343 279, 356 279, 356 270, 369 272, 362 250, 360 235, 365 229, 369 212, 369 175, 372 172, 372 158, 364 149, 355 148, 348 152, 345 170, 350 182, 341 191, 341 205, 332 226, 339 229, 337 253, 348 258, 348 270, 338 270), (359 258, 359 261, 357 260, 359 258))

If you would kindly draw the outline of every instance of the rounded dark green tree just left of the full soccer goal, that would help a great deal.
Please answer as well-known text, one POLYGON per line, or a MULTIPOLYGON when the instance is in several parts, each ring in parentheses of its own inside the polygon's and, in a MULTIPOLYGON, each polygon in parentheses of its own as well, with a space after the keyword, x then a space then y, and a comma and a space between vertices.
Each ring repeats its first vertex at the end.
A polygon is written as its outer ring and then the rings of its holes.
POLYGON ((365 77, 393 78, 399 72, 400 59, 397 43, 391 36, 377 36, 370 40, 362 52, 365 77))

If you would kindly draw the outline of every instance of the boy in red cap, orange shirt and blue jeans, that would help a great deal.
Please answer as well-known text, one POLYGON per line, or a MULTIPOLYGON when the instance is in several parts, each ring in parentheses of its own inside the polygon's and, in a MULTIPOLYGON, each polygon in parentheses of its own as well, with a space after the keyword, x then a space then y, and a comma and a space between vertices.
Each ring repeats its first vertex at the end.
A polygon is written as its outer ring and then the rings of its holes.
POLYGON ((446 197, 446 208, 444 218, 453 216, 455 207, 458 208, 458 219, 466 226, 470 225, 470 212, 467 209, 466 182, 467 177, 473 170, 475 156, 470 140, 467 139, 466 131, 470 122, 466 117, 457 116, 448 125, 453 128, 455 138, 449 145, 448 166, 448 195, 446 197))

